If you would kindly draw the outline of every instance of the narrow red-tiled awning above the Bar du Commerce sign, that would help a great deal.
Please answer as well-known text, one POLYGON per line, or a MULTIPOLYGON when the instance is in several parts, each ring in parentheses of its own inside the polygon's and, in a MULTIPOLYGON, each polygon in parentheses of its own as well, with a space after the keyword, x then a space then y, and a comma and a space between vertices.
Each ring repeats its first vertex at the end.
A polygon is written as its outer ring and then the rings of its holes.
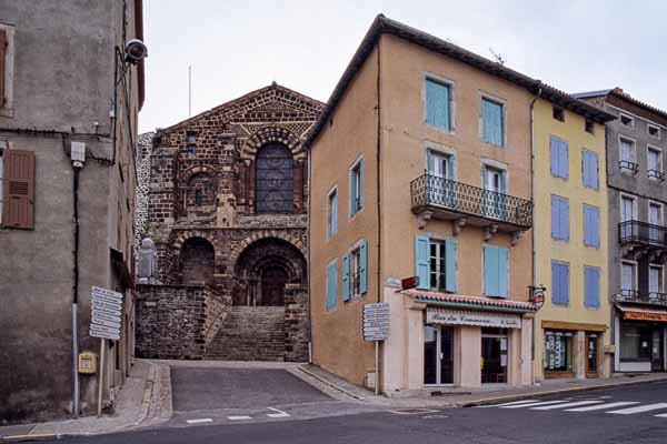
POLYGON ((534 313, 537 307, 531 302, 512 301, 509 299, 469 296, 464 294, 439 293, 419 290, 404 292, 427 305, 451 306, 460 309, 476 309, 506 313, 534 313))

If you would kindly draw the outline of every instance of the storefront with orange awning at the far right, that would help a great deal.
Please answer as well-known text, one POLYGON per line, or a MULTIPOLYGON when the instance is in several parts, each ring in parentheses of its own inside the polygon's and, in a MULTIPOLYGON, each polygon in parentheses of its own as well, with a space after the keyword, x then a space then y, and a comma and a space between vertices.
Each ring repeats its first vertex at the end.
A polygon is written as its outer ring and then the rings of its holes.
POLYGON ((667 310, 617 304, 617 372, 667 370, 667 310))

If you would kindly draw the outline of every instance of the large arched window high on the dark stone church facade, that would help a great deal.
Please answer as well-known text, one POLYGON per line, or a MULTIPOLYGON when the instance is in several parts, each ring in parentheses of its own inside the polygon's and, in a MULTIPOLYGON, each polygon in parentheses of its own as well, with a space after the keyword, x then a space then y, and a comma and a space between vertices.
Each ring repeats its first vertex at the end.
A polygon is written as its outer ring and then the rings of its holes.
POLYGON ((256 159, 255 211, 293 212, 293 160, 281 143, 262 147, 256 159))

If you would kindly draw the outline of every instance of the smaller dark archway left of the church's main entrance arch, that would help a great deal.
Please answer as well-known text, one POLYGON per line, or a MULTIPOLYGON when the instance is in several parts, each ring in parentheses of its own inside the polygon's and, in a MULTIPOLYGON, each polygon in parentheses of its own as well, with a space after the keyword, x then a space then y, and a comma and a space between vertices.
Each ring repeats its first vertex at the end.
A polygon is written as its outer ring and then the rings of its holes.
POLYGON ((216 252, 203 238, 188 239, 180 251, 179 265, 183 284, 213 284, 216 252))

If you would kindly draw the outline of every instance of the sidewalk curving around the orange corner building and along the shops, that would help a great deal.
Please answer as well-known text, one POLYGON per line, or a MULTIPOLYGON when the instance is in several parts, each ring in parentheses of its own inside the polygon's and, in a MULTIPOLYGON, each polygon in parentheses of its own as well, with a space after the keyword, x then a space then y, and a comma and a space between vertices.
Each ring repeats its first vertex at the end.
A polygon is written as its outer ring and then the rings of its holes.
POLYGON ((302 365, 301 372, 320 381, 340 393, 357 400, 358 402, 371 403, 389 408, 419 408, 419 407, 461 407, 469 405, 485 405, 497 402, 509 402, 521 398, 573 394, 603 389, 618 389, 636 384, 667 383, 667 373, 654 373, 641 375, 616 375, 610 379, 597 380, 548 380, 540 385, 526 387, 490 387, 466 390, 448 389, 432 390, 431 393, 419 393, 410 397, 376 396, 371 391, 357 385, 318 367, 317 365, 302 365))

